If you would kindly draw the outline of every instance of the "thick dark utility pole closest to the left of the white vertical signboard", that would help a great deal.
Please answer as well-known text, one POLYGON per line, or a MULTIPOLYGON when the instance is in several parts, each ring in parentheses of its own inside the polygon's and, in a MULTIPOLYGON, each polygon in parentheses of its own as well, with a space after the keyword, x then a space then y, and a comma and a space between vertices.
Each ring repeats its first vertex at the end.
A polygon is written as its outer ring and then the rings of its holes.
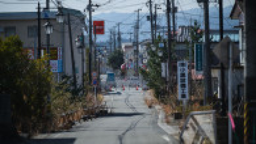
POLYGON ((168 91, 170 92, 171 89, 171 58, 172 58, 172 54, 171 54, 171 26, 170 26, 170 0, 167 0, 167 4, 166 4, 166 8, 167 8, 167 27, 168 27, 168 69, 169 69, 169 83, 168 83, 168 91))

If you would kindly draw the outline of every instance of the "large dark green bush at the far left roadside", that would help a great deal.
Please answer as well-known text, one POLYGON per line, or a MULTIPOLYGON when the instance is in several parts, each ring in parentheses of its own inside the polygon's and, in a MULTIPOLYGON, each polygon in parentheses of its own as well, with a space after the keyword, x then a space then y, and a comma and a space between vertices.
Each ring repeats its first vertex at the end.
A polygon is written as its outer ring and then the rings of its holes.
POLYGON ((47 68, 47 57, 29 60, 18 36, 1 40, 0 46, 0 91, 11 96, 14 123, 38 124, 51 91, 52 72, 47 68))

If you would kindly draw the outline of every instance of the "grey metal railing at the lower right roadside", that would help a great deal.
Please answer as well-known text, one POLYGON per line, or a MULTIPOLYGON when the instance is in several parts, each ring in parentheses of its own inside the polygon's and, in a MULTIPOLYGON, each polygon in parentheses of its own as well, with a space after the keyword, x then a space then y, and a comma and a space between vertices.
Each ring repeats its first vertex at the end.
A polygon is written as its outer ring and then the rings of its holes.
MULTIPOLYGON (((181 132, 180 132, 180 144, 184 144, 184 140, 183 140, 183 138, 182 138, 182 135, 183 135, 183 133, 184 133, 184 131, 185 131, 185 129, 186 129, 186 127, 187 127, 187 125, 188 125, 188 122, 189 122, 189 120, 190 119, 192 119, 193 120, 193 122, 195 123, 195 125, 196 125, 196 127, 197 127, 197 132, 200 134, 200 140, 199 140, 199 143, 201 142, 201 141, 203 141, 205 138, 208 138, 208 136, 206 135, 206 133, 205 133, 205 131, 203 130, 203 128, 199 125, 199 123, 197 122, 197 120, 196 120, 196 118, 194 117, 194 116, 196 116, 196 115, 207 115, 207 114, 212 114, 212 122, 213 122, 213 131, 214 131, 214 142, 212 142, 212 143, 215 143, 215 144, 217 144, 217 125, 216 125, 216 117, 215 117, 215 110, 209 110, 209 111, 194 111, 194 112, 191 112, 189 115, 188 115, 188 117, 187 117, 187 119, 186 119, 186 121, 185 121, 185 123, 184 123, 184 125, 183 125, 183 127, 182 127, 182 130, 181 130, 181 132)), ((192 127, 193 129, 196 129, 196 127, 192 127)))

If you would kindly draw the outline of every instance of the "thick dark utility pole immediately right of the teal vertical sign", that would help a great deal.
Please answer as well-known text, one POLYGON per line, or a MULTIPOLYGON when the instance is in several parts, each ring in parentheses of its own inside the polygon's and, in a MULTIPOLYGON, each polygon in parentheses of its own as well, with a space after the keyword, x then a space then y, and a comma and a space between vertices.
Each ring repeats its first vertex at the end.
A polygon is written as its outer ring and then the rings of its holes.
POLYGON ((210 55, 210 42, 209 42, 209 1, 204 0, 204 105, 208 96, 212 96, 212 80, 211 80, 211 55, 210 55))

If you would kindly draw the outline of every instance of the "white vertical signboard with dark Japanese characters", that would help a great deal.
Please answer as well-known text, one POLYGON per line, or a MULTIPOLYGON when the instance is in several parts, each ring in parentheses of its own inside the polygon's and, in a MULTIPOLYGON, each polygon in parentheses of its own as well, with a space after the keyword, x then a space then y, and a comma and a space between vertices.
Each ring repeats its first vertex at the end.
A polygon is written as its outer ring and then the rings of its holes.
POLYGON ((178 61, 179 100, 188 100, 188 62, 178 61))

